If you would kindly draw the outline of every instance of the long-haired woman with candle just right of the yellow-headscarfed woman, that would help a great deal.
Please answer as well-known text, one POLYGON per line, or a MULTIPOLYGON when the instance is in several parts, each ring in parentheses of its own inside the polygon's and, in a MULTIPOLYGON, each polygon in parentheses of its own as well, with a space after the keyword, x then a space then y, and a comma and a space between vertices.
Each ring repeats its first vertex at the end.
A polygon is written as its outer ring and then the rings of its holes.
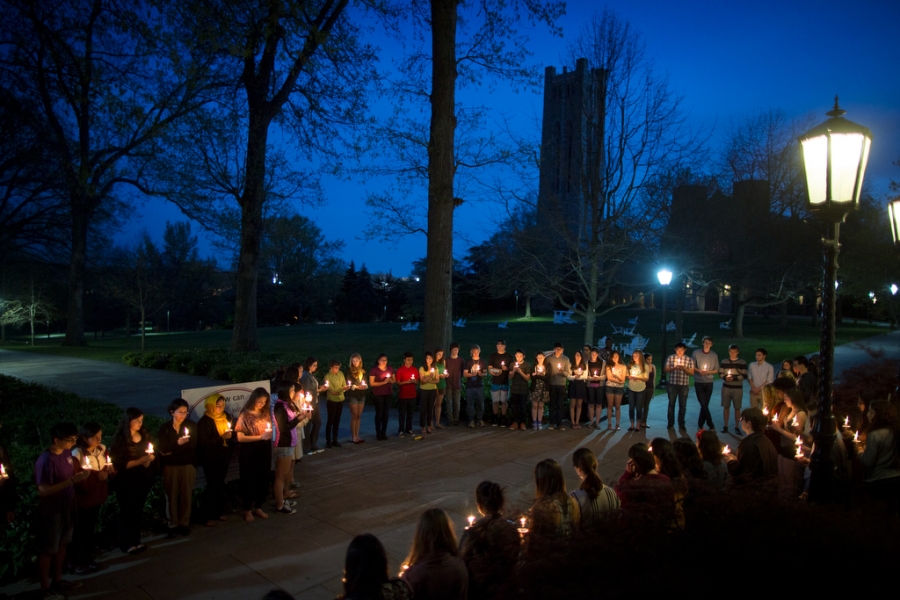
MULTIPOLYGON (((307 371, 308 372, 308 371, 307 371)), ((238 438, 238 466, 241 475, 241 501, 244 520, 252 522, 256 515, 268 519, 262 505, 269 490, 272 469, 271 397, 265 388, 251 392, 238 415, 234 431, 238 438), (255 507, 255 508, 254 508, 255 507)))

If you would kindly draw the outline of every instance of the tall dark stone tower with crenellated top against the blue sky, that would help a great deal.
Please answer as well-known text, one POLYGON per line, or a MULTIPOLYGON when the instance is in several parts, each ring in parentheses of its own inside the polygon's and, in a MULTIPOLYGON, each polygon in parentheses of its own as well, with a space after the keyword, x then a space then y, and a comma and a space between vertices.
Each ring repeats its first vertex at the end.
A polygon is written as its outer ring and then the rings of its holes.
POLYGON ((561 215, 570 230, 584 222, 584 186, 602 172, 604 77, 586 58, 574 71, 544 70, 538 212, 561 215))

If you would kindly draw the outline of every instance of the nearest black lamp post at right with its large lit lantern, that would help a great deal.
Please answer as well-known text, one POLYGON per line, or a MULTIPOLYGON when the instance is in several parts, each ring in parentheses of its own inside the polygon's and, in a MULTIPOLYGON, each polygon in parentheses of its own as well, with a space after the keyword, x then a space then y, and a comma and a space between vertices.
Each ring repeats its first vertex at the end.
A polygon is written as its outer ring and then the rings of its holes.
POLYGON ((810 457, 810 502, 829 502, 834 498, 835 424, 832 412, 834 383, 834 321, 836 312, 840 224, 859 206, 866 162, 872 145, 868 128, 843 118, 838 106, 826 114, 831 117, 798 139, 806 176, 807 209, 827 224, 822 238, 825 257, 822 283, 822 335, 819 348, 819 406, 813 439, 816 449, 810 457))

